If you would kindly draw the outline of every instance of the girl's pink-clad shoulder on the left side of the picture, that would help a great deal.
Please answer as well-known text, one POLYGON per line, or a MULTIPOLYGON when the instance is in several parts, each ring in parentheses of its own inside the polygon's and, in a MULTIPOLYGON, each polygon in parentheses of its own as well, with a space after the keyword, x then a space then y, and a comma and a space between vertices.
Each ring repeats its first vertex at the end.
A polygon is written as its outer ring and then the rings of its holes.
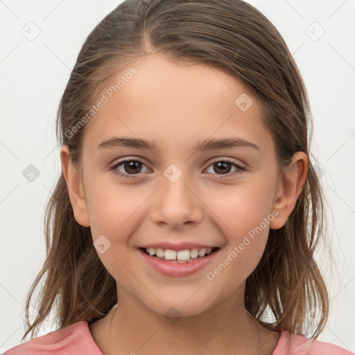
POLYGON ((33 338, 8 349, 3 355, 102 355, 92 338, 86 320, 33 338))

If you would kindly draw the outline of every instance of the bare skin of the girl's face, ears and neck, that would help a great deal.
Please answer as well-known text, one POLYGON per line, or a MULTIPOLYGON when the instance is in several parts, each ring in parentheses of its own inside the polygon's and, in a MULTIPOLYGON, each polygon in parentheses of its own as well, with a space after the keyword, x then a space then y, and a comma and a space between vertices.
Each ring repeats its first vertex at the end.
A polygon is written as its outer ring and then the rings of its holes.
POLYGON ((90 325, 92 336, 104 355, 162 354, 162 349, 239 355, 258 354, 258 347, 260 354, 272 354, 279 334, 245 310, 245 279, 259 263, 269 229, 282 227, 291 214, 306 178, 307 157, 296 153, 284 178, 277 178, 275 145, 261 121, 261 105, 227 73, 205 64, 178 64, 159 53, 132 66, 137 74, 86 123, 81 168, 71 164, 67 146, 60 151, 76 220, 91 227, 93 241, 103 234, 111 243, 98 257, 116 280, 118 306, 90 325), (242 93, 254 101, 245 112, 234 104, 242 93), (114 136, 153 140, 159 152, 97 148, 114 136), (260 152, 193 153, 199 140, 227 137, 246 139, 260 152), (112 172, 125 157, 144 163, 133 166, 133 173, 127 164, 116 168, 133 178, 112 172), (246 170, 231 175, 237 168, 230 164, 223 174, 214 163, 226 158, 246 170), (164 175, 171 164, 182 171, 176 182, 164 175), (207 271, 275 210, 278 216, 209 281, 207 271), (221 249, 202 271, 173 278, 138 258, 139 246, 159 241, 221 249), (181 316, 175 323, 164 316, 172 306, 181 316))

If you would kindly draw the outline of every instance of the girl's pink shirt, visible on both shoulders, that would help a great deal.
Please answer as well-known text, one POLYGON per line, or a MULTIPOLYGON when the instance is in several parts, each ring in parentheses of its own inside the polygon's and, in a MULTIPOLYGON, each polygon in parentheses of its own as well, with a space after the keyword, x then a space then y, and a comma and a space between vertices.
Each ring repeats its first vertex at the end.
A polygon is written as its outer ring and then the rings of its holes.
MULTIPOLYGON (((3 355, 103 355, 92 338, 86 320, 66 328, 25 341, 12 347, 3 355)), ((353 355, 336 345, 320 340, 307 340, 296 335, 288 342, 286 331, 282 330, 279 342, 272 355, 353 355)))

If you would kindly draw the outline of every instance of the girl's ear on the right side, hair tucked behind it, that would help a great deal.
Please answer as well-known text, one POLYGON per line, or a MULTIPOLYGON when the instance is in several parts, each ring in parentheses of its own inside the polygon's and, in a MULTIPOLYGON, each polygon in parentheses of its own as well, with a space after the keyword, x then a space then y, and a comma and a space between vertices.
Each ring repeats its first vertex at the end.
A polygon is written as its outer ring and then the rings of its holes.
POLYGON ((272 210, 276 209, 279 214, 270 222, 271 230, 278 230, 286 223, 306 181, 307 170, 308 158, 306 154, 304 152, 295 153, 292 162, 277 182, 275 203, 272 210))

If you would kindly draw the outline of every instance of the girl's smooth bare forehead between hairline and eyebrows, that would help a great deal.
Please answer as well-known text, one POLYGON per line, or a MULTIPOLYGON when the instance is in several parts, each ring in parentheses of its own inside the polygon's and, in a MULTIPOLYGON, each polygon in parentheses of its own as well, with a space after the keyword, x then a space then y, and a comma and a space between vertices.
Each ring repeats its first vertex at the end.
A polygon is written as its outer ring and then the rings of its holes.
POLYGON ((114 135, 180 150, 198 140, 232 135, 257 141, 261 148, 272 144, 258 98, 229 74, 159 54, 132 62, 130 68, 112 78, 99 96, 106 102, 85 128, 87 149, 114 135))

